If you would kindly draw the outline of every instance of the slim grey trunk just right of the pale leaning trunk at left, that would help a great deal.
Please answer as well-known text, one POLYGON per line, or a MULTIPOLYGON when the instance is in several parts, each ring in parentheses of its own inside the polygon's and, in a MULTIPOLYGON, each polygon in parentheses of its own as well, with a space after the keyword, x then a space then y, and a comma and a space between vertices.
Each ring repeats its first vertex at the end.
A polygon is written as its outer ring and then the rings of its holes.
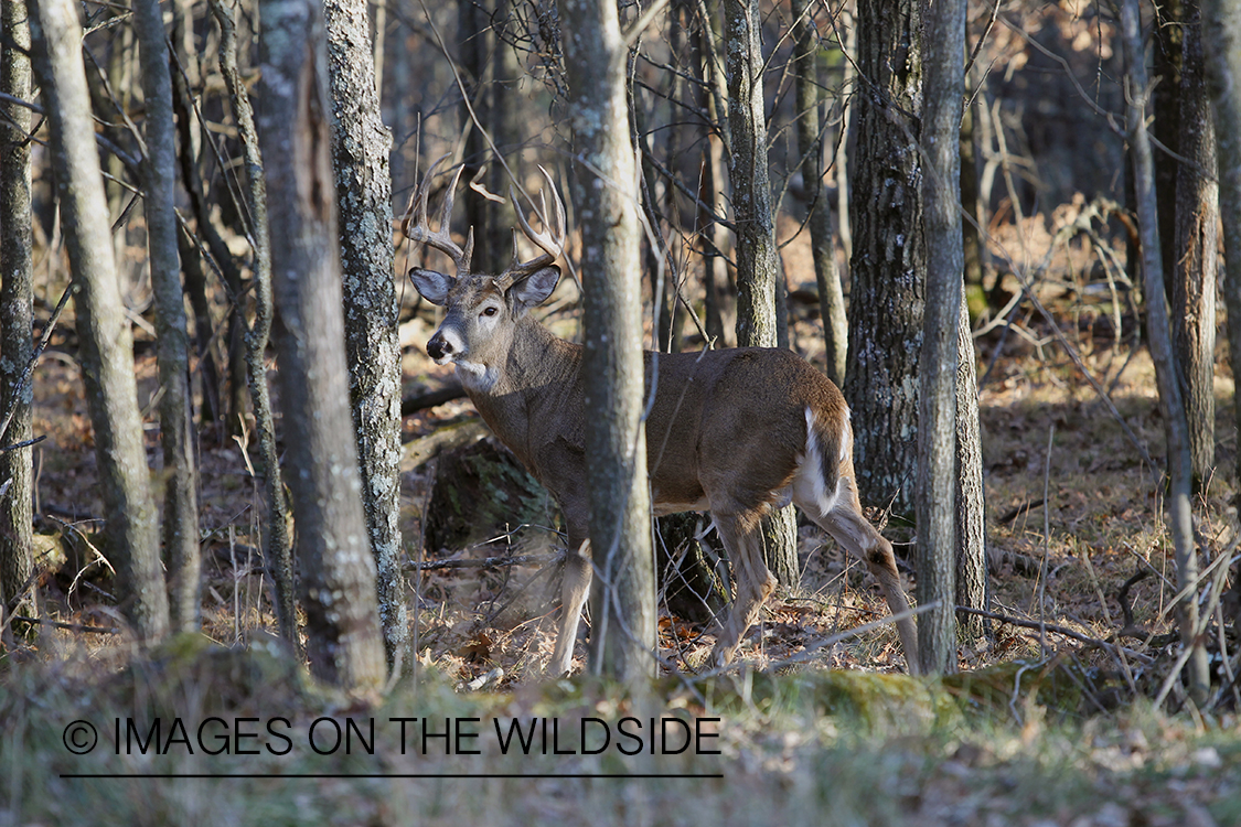
POLYGON ((201 615, 199 554, 199 474, 194 461, 195 433, 190 393, 190 335, 185 321, 185 293, 177 254, 176 126, 172 123, 172 78, 159 0, 134 1, 134 29, 141 61, 143 135, 146 157, 141 165, 146 188, 143 208, 151 286, 155 293, 155 334, 163 397, 159 404, 160 444, 164 448, 164 562, 168 568, 172 629, 197 631, 201 615))

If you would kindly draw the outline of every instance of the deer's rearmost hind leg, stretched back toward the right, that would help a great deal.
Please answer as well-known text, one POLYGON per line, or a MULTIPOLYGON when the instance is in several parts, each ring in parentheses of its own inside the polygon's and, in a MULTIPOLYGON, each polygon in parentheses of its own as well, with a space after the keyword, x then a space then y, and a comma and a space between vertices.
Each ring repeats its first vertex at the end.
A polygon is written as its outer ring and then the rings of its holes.
MULTIPOLYGON (((875 527, 862 515, 858 489, 853 479, 838 477, 835 493, 828 497, 797 496, 799 493, 802 491, 794 487, 794 500, 802 511, 840 543, 846 552, 865 563, 870 573, 875 575, 891 613, 898 615, 908 611, 910 601, 905 596, 905 589, 901 588, 901 574, 896 569, 892 544, 875 531, 875 527)), ((917 674, 920 671, 918 635, 913 626, 913 619, 906 617, 896 621, 896 631, 901 637, 901 646, 905 648, 905 665, 910 674, 917 674)))

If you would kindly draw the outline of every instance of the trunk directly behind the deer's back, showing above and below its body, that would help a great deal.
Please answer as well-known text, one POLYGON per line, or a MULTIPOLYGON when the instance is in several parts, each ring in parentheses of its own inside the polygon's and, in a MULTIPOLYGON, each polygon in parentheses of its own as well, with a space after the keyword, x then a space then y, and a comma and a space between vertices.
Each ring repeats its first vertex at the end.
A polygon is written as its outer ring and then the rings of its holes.
MULTIPOLYGON (((731 135, 728 175, 737 227, 737 347, 777 347, 779 252, 767 171, 758 0, 725 0, 724 31, 731 135)), ((763 559, 782 585, 797 585, 800 579, 797 517, 791 507, 763 520, 763 559)))

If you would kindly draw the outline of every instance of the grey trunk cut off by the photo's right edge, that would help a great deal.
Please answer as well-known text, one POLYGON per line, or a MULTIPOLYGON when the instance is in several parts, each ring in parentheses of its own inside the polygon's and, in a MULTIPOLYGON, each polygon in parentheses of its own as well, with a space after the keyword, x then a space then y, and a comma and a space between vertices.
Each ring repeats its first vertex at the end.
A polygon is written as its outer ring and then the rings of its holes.
MULTIPOLYGON (((1241 86, 1241 6, 1230 0, 1203 0, 1203 46, 1215 113, 1216 169, 1224 218, 1224 301, 1235 377, 1241 373, 1241 98, 1236 94, 1241 86)), ((1241 404, 1234 408, 1241 430, 1241 404)), ((1241 451, 1237 460, 1241 464, 1241 451)), ((1241 480, 1239 469, 1234 469, 1234 474, 1241 480)))

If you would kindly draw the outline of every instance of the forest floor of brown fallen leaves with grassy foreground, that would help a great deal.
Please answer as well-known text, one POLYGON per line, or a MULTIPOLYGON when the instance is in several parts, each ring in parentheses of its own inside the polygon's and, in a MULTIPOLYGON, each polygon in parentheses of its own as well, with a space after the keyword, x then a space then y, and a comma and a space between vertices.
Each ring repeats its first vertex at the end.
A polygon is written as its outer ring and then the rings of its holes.
MULTIPOLYGON (((551 655, 555 567, 434 570, 410 578, 418 681, 360 704, 310 684, 269 643, 269 579, 256 551, 261 485, 244 454, 253 440, 204 439, 205 637, 145 655, 124 634, 10 637, 0 653, 0 827, 1241 825, 1236 694, 1199 712, 1168 682, 1169 701, 1152 703, 1176 646, 1159 637, 1173 630, 1174 563, 1159 484, 1142 458, 1162 462, 1164 453, 1149 357, 1114 341, 1106 307, 1064 289, 1049 295, 1061 298, 1057 321, 1128 433, 1044 320, 1025 314, 1021 335, 978 340, 992 608, 1026 625, 992 620, 989 637, 961 648, 958 676, 901 674, 890 625, 844 635, 887 611, 860 567, 803 528, 803 580, 769 604, 737 670, 696 676, 710 630, 663 611, 660 655, 673 668, 649 693, 586 678, 547 682, 540 674, 551 655), (1132 609, 1122 606, 1122 586, 1143 570, 1150 577, 1128 590, 1132 609), (833 636, 840 640, 819 646, 833 636), (221 723, 206 729, 205 743, 201 727, 212 717, 221 723), (637 729, 622 736, 625 717, 637 729), (684 722, 671 725, 674 749, 656 739, 655 720, 665 717, 684 722), (323 749, 326 719, 336 732, 356 732, 352 749, 323 749), (69 732, 77 722, 102 733, 89 755, 78 754, 79 735, 69 732), (377 728, 369 744, 367 722, 377 728), (542 722, 520 756, 513 741, 501 754, 515 722, 530 733, 542 722), (154 739, 161 749, 135 744, 134 734, 145 740, 153 725, 163 727, 154 739), (705 735, 675 751, 680 727, 705 735), (446 728, 465 740, 438 739, 446 728), (604 729, 608 744, 594 753, 604 729), (637 755, 622 749, 634 744, 637 755), (223 748, 211 754, 212 745, 223 748), (482 754, 465 754, 472 746, 482 754), (82 774, 97 777, 72 777, 82 774)), ((814 361, 818 322, 793 310, 795 340, 814 361)), ((141 347, 138 372, 149 394, 155 365, 141 347)), ((417 347, 407 351, 406 374, 411 387, 447 378, 417 347)), ((1221 374, 1220 469, 1236 465, 1232 392, 1221 374)), ((45 578, 43 614, 69 626, 122 626, 107 567, 92 551, 103 511, 72 360, 45 360, 36 405, 35 430, 48 438, 38 451, 36 513, 68 558, 45 578)), ((419 412, 406 419, 406 436, 469 412, 467 402, 419 412)), ((148 449, 158 458, 155 431, 148 449)), ((402 477, 411 562, 438 557, 418 542, 433 471, 428 464, 402 477)), ((1211 559, 1235 549, 1227 476, 1221 471, 1195 503, 1211 559)), ((885 532, 902 539, 898 526, 885 532)), ((553 546, 553 534, 515 532, 448 553, 553 546)), ((912 594, 912 579, 907 585, 912 594)), ((581 668, 585 641, 577 655, 581 668)))

